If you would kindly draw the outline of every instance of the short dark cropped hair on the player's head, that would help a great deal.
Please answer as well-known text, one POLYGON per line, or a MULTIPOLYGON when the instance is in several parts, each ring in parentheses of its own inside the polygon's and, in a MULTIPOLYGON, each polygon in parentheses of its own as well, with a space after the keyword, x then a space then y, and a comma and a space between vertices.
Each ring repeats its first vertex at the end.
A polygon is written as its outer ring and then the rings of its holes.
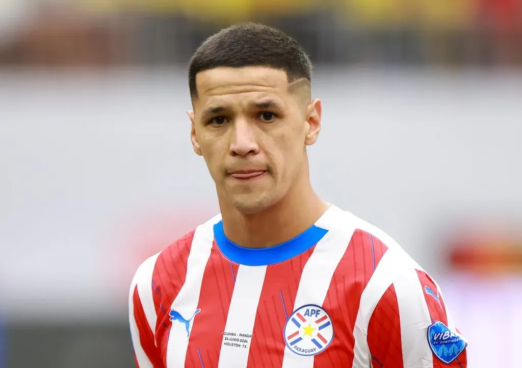
POLYGON ((188 67, 191 97, 197 97, 196 75, 219 66, 269 66, 284 70, 289 82, 312 80, 312 62, 301 45, 278 29, 255 23, 223 29, 199 46, 188 67))

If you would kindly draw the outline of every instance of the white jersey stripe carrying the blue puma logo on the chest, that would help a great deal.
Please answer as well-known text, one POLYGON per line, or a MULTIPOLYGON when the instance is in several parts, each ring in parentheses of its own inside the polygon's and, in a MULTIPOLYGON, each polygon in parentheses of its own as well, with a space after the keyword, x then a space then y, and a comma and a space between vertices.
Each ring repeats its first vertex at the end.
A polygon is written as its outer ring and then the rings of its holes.
MULTIPOLYGON (((172 302, 171 309, 181 314, 183 318, 191 318, 199 303, 199 293, 203 273, 207 267, 213 241, 213 224, 219 221, 219 216, 196 228, 192 239, 191 250, 187 259, 187 273, 180 292, 172 302)), ((170 311, 168 310, 167 313, 170 311)), ((194 316, 194 319, 197 315, 194 316)), ((189 324, 192 329, 194 319, 189 324)), ((184 368, 188 348, 188 336, 185 325, 172 321, 169 342, 167 343, 167 368, 184 368)))

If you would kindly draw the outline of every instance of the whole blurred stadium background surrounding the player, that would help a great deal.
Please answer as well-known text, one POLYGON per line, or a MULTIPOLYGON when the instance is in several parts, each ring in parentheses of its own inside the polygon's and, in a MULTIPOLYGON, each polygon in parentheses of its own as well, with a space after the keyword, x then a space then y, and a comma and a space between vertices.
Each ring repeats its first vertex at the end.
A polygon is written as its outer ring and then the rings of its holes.
POLYGON ((133 366, 135 268, 218 210, 186 64, 243 20, 315 62, 318 192, 437 278, 470 367, 520 366, 521 0, 0 0, 0 368, 133 366))

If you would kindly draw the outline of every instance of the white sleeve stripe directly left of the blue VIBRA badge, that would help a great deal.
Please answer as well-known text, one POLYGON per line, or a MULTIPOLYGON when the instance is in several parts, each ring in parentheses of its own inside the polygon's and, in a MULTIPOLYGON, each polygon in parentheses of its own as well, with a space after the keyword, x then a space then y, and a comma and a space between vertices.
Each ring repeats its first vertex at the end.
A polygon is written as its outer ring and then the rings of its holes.
POLYGON ((428 344, 430 311, 417 271, 407 270, 394 281, 399 303, 402 359, 405 368, 433 368, 433 354, 428 344))

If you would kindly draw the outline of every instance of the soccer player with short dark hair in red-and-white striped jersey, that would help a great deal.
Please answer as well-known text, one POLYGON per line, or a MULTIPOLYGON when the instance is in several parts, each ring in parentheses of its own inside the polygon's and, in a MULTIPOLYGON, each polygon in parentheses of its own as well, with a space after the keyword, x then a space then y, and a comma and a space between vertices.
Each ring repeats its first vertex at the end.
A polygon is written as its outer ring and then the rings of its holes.
POLYGON ((306 147, 322 105, 311 78, 300 45, 262 25, 224 29, 194 53, 191 140, 221 213, 138 268, 139 368, 466 367, 435 281, 312 189, 306 147))

